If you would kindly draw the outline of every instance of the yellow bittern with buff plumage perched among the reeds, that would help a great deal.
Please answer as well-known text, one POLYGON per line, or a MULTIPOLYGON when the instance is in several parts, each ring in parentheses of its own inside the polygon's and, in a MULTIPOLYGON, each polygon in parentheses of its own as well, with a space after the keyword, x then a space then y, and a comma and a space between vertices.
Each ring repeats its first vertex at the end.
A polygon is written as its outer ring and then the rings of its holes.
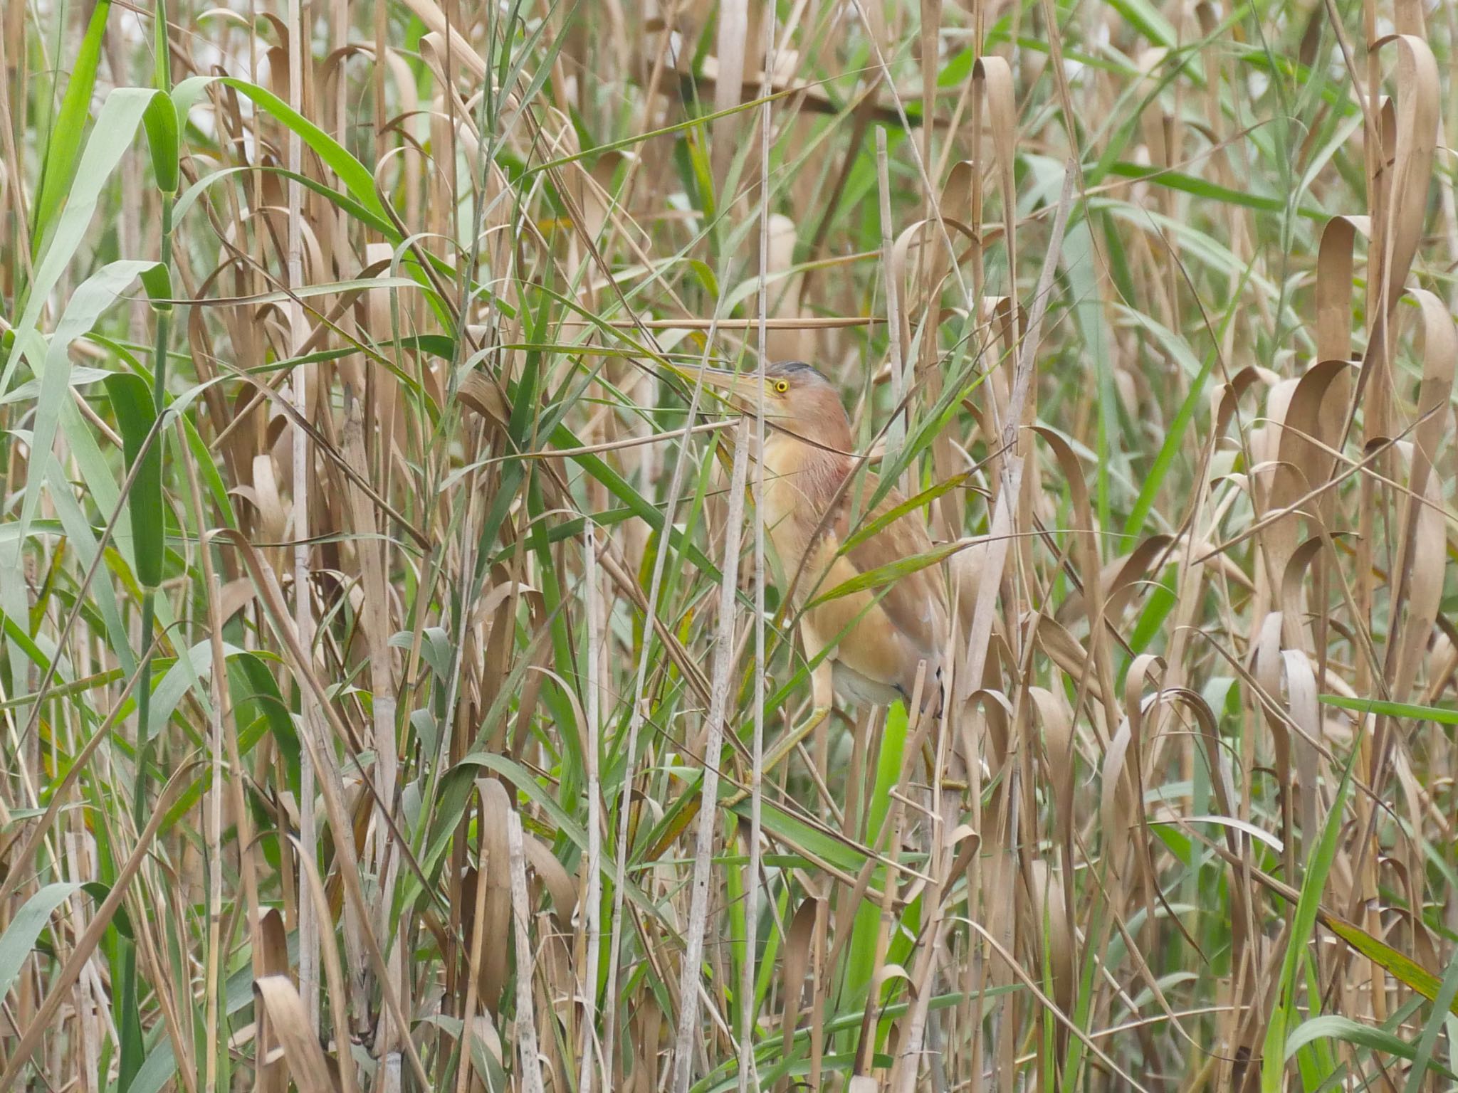
MULTIPOLYGON (((706 386, 728 392, 739 412, 758 412, 757 373, 704 367, 688 375, 701 375, 706 386)), ((827 717, 833 691, 859 702, 885 705, 903 698, 910 705, 917 670, 926 662, 923 705, 935 707, 948 603, 939 567, 907 573, 889 587, 816 602, 859 574, 927 554, 932 541, 919 513, 910 512, 843 551, 857 493, 847 479, 860 461, 851 450, 840 395, 803 361, 768 366, 763 388, 764 450, 757 453, 764 461, 761 516, 780 563, 781 587, 800 609, 805 657, 814 663, 827 650, 811 675, 814 711, 765 756, 768 771, 827 717)), ((859 493, 875 495, 873 474, 859 493)), ((897 490, 886 490, 863 519, 875 523, 904 500, 897 490)))

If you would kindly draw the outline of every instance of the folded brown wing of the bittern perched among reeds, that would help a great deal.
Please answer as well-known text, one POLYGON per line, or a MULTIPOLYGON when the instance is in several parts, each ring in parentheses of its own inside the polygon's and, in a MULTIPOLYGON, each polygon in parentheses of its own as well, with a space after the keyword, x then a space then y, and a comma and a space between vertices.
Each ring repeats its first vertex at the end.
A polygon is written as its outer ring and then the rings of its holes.
MULTIPOLYGON (((865 494, 869 497, 876 488, 875 475, 866 475, 865 494)), ((860 526, 878 520, 889 513, 905 498, 897 490, 888 490, 865 517, 860 526)), ((854 530, 854 529, 851 529, 854 530)), ((859 571, 889 565, 932 549, 932 538, 926 532, 921 510, 913 510, 897 517, 865 542, 859 542, 846 552, 846 560, 859 571)), ((926 565, 913 573, 903 574, 888 589, 881 599, 881 609, 886 614, 897 630, 921 651, 929 662, 942 650, 946 641, 948 608, 946 586, 942 580, 940 565, 926 565)))

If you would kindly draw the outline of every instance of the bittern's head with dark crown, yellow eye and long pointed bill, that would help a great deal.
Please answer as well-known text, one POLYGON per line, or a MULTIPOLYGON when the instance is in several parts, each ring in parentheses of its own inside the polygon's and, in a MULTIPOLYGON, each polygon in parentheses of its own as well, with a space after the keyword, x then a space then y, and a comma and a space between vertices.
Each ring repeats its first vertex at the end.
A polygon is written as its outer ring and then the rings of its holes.
POLYGON ((840 392, 812 364, 802 360, 770 364, 763 382, 754 372, 706 367, 687 373, 691 380, 700 376, 706 388, 720 392, 725 402, 741 414, 757 414, 763 405, 767 431, 773 430, 777 437, 798 439, 837 453, 851 450, 850 420, 840 392))

